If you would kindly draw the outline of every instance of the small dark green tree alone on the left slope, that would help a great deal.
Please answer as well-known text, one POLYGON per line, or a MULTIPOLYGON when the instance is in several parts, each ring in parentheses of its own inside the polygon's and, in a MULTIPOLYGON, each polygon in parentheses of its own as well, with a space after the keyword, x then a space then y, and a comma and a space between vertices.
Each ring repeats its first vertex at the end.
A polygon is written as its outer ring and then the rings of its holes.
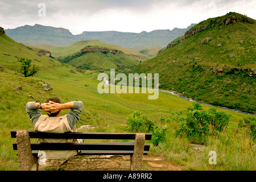
POLYGON ((39 68, 35 67, 35 65, 33 65, 33 67, 30 68, 32 61, 31 59, 25 59, 24 57, 20 57, 18 61, 22 63, 21 72, 25 77, 34 76, 35 73, 39 71, 39 68))

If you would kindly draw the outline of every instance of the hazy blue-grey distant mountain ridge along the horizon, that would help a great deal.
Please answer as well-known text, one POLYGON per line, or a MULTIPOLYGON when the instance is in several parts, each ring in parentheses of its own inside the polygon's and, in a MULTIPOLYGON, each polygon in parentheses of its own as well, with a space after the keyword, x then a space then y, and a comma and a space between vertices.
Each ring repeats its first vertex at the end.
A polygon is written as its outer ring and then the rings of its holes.
POLYGON ((125 48, 133 47, 166 47, 168 43, 177 37, 184 35, 189 28, 174 28, 171 30, 154 30, 151 32, 142 31, 141 33, 118 32, 118 31, 84 31, 82 34, 73 35, 65 28, 56 28, 35 24, 34 26, 25 25, 14 29, 5 30, 6 35, 28 45, 48 44, 51 46, 69 46, 79 40, 100 40, 108 44, 115 44, 125 48))

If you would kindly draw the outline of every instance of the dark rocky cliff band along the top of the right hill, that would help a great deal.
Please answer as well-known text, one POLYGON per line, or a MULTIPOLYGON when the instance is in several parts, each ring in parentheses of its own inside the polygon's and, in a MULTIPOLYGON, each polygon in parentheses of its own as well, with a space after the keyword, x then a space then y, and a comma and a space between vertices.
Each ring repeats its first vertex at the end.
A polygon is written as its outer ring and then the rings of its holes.
MULTIPOLYGON (((188 31, 185 32, 184 34, 184 39, 188 38, 189 36, 192 36, 194 34, 197 34, 198 32, 207 30, 208 28, 211 27, 216 27, 216 26, 224 26, 224 25, 229 25, 232 23, 250 23, 253 24, 255 23, 255 20, 252 18, 249 18, 245 15, 241 15, 238 13, 232 13, 230 12, 229 14, 226 14, 226 16, 223 16, 224 18, 213 18, 213 19, 208 19, 205 21, 205 24, 202 24, 202 26, 197 26, 195 28, 191 28, 188 31)), ((200 25, 200 23, 199 23, 200 25)))

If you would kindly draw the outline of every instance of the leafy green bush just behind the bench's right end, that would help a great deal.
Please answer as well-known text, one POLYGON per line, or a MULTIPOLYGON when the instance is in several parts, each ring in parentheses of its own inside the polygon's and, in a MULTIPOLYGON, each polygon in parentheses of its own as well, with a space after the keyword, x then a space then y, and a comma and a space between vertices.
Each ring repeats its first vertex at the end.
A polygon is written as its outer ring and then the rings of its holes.
POLYGON ((151 142, 157 146, 159 143, 166 140, 167 127, 159 128, 159 126, 155 122, 150 121, 146 115, 141 115, 138 111, 134 111, 127 117, 126 131, 134 133, 152 133, 151 142))

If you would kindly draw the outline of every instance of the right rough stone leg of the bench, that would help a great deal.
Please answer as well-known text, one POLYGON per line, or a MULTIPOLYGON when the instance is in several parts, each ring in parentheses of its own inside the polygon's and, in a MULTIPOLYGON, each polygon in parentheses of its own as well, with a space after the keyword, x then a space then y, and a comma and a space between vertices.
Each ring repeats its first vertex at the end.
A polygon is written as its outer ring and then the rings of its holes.
POLYGON ((133 156, 131 156, 131 171, 141 171, 143 169, 143 152, 145 144, 145 134, 137 133, 134 144, 133 156))

